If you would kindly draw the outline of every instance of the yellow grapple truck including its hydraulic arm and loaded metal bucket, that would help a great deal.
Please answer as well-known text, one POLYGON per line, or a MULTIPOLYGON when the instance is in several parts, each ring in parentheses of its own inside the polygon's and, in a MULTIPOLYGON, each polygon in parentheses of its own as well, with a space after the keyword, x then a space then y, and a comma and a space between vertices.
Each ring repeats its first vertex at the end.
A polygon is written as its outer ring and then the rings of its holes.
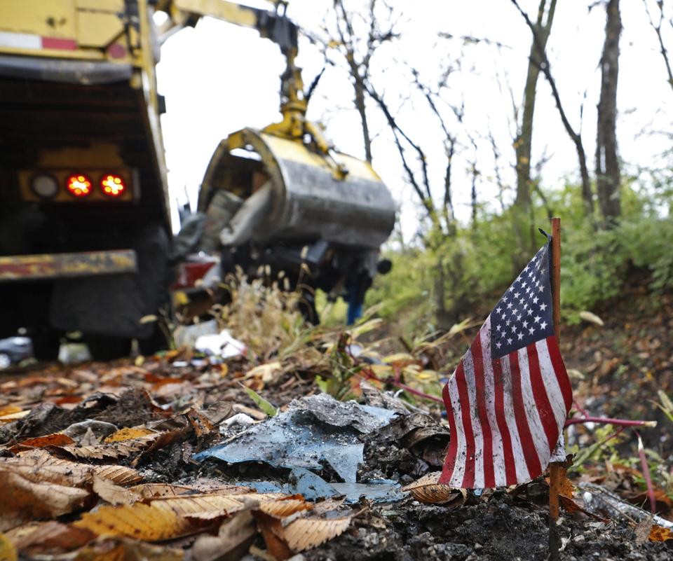
POLYGON ((44 359, 69 331, 100 359, 127 354, 132 338, 144 352, 161 344, 144 321, 172 277, 155 65, 159 43, 205 15, 257 29, 287 68, 280 122, 230 134, 215 151, 196 249, 219 252, 223 275, 285 272, 304 286, 308 317, 317 288, 360 309, 395 205, 367 162, 337 153, 306 119, 298 29, 287 2, 274 4, 0 1, 0 338, 27 328, 44 359))

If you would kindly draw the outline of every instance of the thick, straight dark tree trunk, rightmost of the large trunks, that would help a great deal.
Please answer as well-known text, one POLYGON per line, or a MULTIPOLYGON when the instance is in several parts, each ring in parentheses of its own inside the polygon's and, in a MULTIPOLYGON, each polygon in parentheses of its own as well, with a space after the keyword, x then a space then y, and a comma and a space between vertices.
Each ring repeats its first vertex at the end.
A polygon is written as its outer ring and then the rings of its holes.
POLYGON ((619 36, 622 20, 619 0, 609 0, 605 43, 601 57, 601 96, 598 102, 596 138, 596 188, 598 202, 607 226, 621 214, 620 169, 617 158, 617 78, 619 74, 619 36))

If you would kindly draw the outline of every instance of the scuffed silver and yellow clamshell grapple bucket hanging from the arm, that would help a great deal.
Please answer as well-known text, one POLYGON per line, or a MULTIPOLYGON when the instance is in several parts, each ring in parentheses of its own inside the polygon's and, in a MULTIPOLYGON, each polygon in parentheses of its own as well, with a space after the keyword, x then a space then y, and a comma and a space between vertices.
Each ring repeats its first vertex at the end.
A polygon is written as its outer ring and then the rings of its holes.
POLYGON ((252 240, 320 239, 378 249, 393 230, 393 198, 367 162, 340 153, 334 160, 301 141, 244 129, 223 140, 212 156, 199 210, 208 212, 219 190, 243 199, 242 209, 254 193, 270 190, 252 240))

